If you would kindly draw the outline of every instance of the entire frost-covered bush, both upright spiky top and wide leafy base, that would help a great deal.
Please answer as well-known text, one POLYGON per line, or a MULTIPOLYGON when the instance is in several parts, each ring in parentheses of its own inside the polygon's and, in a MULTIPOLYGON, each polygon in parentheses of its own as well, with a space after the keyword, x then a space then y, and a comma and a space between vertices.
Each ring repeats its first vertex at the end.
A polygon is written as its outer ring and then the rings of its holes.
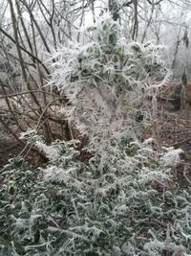
POLYGON ((67 97, 64 118, 89 138, 46 145, 35 130, 21 138, 49 159, 31 170, 5 167, 0 187, 0 254, 4 256, 157 256, 191 253, 191 189, 172 174, 180 150, 140 142, 144 99, 166 80, 152 43, 127 43, 106 15, 88 29, 92 41, 53 55, 53 80, 67 97), (159 83, 158 83, 159 82, 159 83))

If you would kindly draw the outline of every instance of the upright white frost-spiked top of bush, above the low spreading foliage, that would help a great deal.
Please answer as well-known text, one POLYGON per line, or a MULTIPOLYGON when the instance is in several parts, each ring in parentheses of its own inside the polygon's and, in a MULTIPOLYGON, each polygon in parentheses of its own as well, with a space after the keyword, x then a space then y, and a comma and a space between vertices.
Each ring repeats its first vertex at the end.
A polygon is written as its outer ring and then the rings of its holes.
POLYGON ((50 85, 68 99, 60 109, 63 118, 85 132, 89 149, 97 150, 113 136, 136 138, 149 121, 146 97, 168 80, 168 72, 162 47, 128 42, 108 14, 84 31, 88 43, 71 43, 53 54, 50 85))

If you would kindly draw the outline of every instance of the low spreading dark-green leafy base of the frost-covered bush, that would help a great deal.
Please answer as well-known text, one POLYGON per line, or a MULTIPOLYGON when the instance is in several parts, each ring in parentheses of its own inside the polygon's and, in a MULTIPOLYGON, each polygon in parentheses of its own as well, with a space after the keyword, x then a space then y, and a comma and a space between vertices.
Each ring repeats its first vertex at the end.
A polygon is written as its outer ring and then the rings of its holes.
POLYGON ((71 143, 47 146, 36 135, 33 145, 52 156, 35 172, 22 159, 7 165, 1 255, 191 253, 191 190, 172 180, 180 151, 151 142, 123 139, 85 165, 71 143))

